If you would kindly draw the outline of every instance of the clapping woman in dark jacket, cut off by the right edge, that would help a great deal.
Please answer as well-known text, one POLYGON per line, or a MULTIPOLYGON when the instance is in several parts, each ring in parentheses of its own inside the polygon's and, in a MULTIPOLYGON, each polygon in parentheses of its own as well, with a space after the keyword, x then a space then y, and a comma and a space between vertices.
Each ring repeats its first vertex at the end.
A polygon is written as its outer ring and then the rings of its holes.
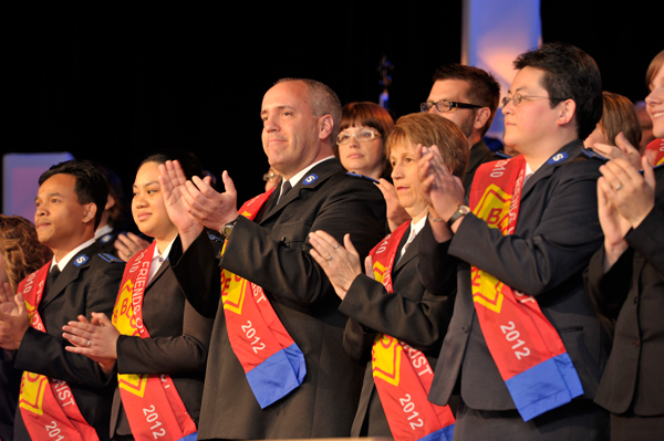
MULTIPOLYGON (((664 137, 664 51, 646 74, 653 133, 664 137)), ((587 291, 613 325, 613 349, 595 393, 611 412, 612 440, 664 433, 664 167, 623 146, 600 168, 599 217, 604 245, 593 255, 587 291), (643 168, 643 174, 639 171, 643 168)))

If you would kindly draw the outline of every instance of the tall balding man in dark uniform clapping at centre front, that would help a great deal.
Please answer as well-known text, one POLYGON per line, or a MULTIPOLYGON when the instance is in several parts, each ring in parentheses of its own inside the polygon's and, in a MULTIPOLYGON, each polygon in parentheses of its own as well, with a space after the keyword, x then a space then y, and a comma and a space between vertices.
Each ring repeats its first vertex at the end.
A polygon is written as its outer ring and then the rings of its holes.
MULTIPOLYGON (((342 348, 346 318, 338 312, 340 301, 328 276, 309 253, 308 234, 324 230, 341 241, 350 232, 366 255, 383 235, 385 203, 373 183, 347 176, 333 157, 341 104, 328 86, 311 80, 281 80, 266 93, 261 119, 263 149, 282 185, 253 221, 238 216, 252 209, 246 204, 238 212, 227 172, 227 191, 217 193, 203 180, 185 182, 177 165, 167 164, 162 170, 166 206, 185 250, 179 262, 172 263, 174 271, 189 302, 201 314, 216 315, 198 437, 346 437, 363 368, 342 348), (230 272, 234 280, 243 277, 262 287, 277 322, 301 349, 305 375, 282 398, 259 406, 259 393, 253 385, 250 388, 252 371, 245 376, 248 368, 232 346, 239 329, 224 308, 226 291, 219 302, 219 267, 204 225, 226 235, 220 262, 225 276, 230 272)), ((263 300, 257 298, 257 304, 263 300)), ((242 329, 255 338, 249 322, 247 321, 242 329)))

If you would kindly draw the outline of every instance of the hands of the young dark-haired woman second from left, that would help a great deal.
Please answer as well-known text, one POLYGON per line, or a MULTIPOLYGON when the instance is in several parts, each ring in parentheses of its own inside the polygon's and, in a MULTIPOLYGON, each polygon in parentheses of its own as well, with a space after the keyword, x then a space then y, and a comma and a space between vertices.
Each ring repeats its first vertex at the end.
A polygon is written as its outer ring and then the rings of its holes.
POLYGON ((73 346, 65 346, 70 353, 82 354, 100 364, 110 374, 117 360, 117 337, 120 332, 106 314, 92 313, 92 323, 80 315, 79 322, 69 322, 62 327, 62 336, 73 346))

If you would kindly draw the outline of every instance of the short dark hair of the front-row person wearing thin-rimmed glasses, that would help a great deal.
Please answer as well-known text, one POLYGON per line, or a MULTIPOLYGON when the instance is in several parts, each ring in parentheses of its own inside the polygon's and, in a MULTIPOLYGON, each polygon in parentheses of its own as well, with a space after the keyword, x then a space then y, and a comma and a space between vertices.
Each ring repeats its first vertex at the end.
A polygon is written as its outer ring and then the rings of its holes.
POLYGON ((551 108, 564 99, 577 104, 577 136, 585 139, 602 118, 602 76, 595 61, 568 43, 547 43, 522 53, 515 67, 543 71, 541 86, 549 93, 551 108))

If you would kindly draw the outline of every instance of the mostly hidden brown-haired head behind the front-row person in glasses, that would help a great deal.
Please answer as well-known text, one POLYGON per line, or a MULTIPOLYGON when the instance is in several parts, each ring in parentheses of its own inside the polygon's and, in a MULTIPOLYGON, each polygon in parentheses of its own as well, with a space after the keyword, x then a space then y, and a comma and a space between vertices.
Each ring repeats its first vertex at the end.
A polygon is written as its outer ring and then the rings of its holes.
POLYGON ((594 132, 583 141, 585 147, 592 147, 595 143, 615 146, 615 138, 621 132, 630 144, 639 146, 641 124, 632 102, 611 92, 603 92, 602 98, 604 104, 602 119, 598 123, 594 132))

